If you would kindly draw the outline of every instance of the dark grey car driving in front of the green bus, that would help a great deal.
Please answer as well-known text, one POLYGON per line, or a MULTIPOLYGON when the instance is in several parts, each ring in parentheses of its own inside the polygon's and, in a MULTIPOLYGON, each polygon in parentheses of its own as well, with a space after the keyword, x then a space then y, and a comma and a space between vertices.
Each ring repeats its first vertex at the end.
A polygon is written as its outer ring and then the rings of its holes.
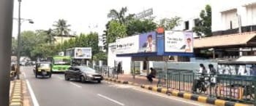
POLYGON ((101 83, 103 76, 99 73, 96 73, 96 70, 86 67, 86 66, 72 66, 65 72, 65 80, 73 78, 81 82, 84 81, 97 81, 101 83))

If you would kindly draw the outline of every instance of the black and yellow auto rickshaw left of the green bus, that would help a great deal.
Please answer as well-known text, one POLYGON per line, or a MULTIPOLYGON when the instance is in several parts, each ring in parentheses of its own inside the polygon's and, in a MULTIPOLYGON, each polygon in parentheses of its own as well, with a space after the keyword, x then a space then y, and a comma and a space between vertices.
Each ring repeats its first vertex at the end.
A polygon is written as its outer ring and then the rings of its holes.
POLYGON ((50 62, 37 62, 34 66, 34 75, 36 76, 48 76, 48 78, 51 77, 51 63, 50 62))

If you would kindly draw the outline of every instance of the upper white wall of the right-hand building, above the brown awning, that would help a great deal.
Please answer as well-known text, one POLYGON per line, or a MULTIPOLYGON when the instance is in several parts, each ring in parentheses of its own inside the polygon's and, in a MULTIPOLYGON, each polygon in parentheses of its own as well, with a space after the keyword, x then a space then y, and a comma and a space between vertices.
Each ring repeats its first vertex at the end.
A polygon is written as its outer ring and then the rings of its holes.
POLYGON ((216 0, 211 1, 211 7, 214 35, 238 33, 240 25, 242 32, 248 32, 256 25, 256 0, 216 0))

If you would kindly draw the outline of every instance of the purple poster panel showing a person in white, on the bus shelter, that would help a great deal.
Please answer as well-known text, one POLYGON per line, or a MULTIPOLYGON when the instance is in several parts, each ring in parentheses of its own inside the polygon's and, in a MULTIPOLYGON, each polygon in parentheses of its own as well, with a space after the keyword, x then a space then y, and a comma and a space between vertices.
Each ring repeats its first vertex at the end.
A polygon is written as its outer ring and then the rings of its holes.
POLYGON ((143 33, 140 34, 140 49, 138 52, 157 52, 157 33, 143 33))

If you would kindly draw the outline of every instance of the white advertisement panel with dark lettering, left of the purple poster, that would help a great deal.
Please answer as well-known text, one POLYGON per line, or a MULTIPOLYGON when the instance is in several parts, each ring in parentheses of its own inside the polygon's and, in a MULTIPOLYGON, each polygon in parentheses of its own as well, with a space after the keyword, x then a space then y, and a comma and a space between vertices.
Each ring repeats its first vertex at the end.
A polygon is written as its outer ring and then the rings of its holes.
POLYGON ((139 50, 139 36, 129 36, 116 40, 116 54, 132 54, 139 50))

